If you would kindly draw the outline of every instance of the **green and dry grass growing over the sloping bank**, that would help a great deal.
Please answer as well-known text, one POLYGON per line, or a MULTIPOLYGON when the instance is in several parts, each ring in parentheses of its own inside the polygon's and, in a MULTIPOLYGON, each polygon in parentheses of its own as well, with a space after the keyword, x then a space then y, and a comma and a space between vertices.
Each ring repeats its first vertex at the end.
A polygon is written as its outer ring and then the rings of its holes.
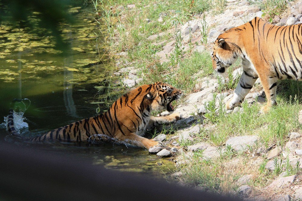
MULTIPOLYGON (((271 4, 269 4, 270 1, 250 2, 264 11, 267 21, 271 21, 276 14, 287 9, 283 1, 271 1, 271 4)), ((211 47, 205 42, 209 27, 205 24, 202 14, 221 13, 225 5, 224 0, 110 0, 106 3, 101 2, 96 9, 104 14, 100 19, 104 20, 108 26, 108 52, 117 63, 138 69, 138 76, 143 78, 142 84, 164 81, 185 91, 188 95, 196 90, 195 85, 200 81, 199 79, 204 77, 217 79, 212 70, 209 53, 211 47), (135 7, 127 8, 129 4, 134 4, 135 7), (198 17, 196 14, 201 15, 198 17), (201 29, 202 37, 194 43, 191 40, 185 43, 180 27, 196 17, 205 27, 201 29), (153 39, 148 39, 155 34, 158 35, 153 39), (162 61, 156 53, 161 52, 163 46, 172 41, 174 41, 173 50, 162 61), (204 45, 206 51, 194 51, 196 45, 204 45), (123 56, 119 54, 121 52, 124 53, 123 56)), ((299 110, 302 109, 300 94, 302 88, 296 81, 281 81, 278 83, 277 90, 278 106, 273 107, 268 113, 259 113, 262 104, 257 103, 256 100, 253 103, 244 101, 238 112, 226 114, 222 102, 218 107, 215 106, 215 97, 219 93, 233 92, 239 81, 239 78, 233 79, 233 70, 240 67, 241 61, 238 60, 228 71, 227 79, 224 81, 218 79, 218 87, 213 94, 214 101, 208 101, 205 104, 207 113, 202 116, 195 113, 196 119, 201 119, 196 123, 201 126, 201 130, 191 134, 194 140, 179 142, 178 148, 184 152, 189 145, 207 142, 220 150, 220 157, 206 161, 202 159, 202 151, 194 152, 190 162, 179 167, 182 176, 178 179, 186 184, 218 193, 236 194, 240 185, 236 181, 241 176, 249 174, 251 179, 247 184, 252 187, 253 193, 269 197, 286 191, 264 190, 264 187, 281 173, 285 176, 300 175, 299 164, 298 166, 290 164, 289 156, 286 154, 276 155, 273 159, 275 170, 268 170, 265 165, 268 162, 266 155, 272 148, 281 147, 284 153, 288 153, 288 149, 285 148, 285 144, 289 141, 288 133, 300 132, 301 125, 297 116, 299 110), (236 152, 230 146, 225 146, 226 140, 230 137, 245 135, 259 136, 259 143, 243 152, 236 152), (254 163, 257 160, 259 163, 254 163)), ((261 90, 261 85, 256 84, 252 92, 261 90)), ((193 116, 194 112, 192 111, 193 116)), ((177 135, 174 131, 164 128, 162 133, 177 135)))

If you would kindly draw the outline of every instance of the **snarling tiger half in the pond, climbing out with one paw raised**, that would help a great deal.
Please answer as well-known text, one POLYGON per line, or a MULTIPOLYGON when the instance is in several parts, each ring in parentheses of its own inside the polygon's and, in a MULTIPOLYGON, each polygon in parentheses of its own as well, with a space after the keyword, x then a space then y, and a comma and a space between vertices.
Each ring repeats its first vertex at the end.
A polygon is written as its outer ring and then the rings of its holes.
MULTIPOLYGON (((181 119, 179 113, 168 116, 150 116, 151 112, 163 109, 173 112, 172 101, 178 100, 182 91, 171 85, 156 82, 142 85, 130 90, 117 99, 107 112, 94 117, 79 120, 67 126, 54 129, 42 136, 26 139, 32 142, 45 140, 90 141, 101 139, 103 134, 117 140, 132 140, 140 142, 147 149, 160 146, 153 139, 142 137, 146 129, 159 124, 173 123, 181 119)), ((14 128, 13 110, 8 115, 8 132, 19 136, 14 128)))

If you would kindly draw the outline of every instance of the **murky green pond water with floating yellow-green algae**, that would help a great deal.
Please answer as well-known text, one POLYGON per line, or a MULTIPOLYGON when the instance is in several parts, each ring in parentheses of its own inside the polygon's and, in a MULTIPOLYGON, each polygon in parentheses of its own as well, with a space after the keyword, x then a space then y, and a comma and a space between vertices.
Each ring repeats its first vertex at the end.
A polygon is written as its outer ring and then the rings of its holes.
MULTIPOLYGON (((7 8, 8 9, 8 8, 7 8)), ((4 9, 5 10, 5 9, 4 9)), ((129 145, 44 142, 15 143, 6 138, 4 118, 11 101, 25 99, 26 107, 20 133, 37 136, 77 120, 107 110, 122 91, 113 88, 110 72, 115 70, 104 54, 105 26, 94 20, 89 7, 70 7, 75 20, 62 23, 62 38, 69 42, 68 51, 55 48, 56 40, 49 30, 16 27, 10 22, 0 26, 0 141, 12 146, 39 147, 50 152, 69 152, 77 158, 91 159, 92 164, 121 171, 135 171, 165 177, 174 171, 173 162, 157 158, 147 150, 129 145), (102 30, 102 32, 100 32, 102 30), (98 37, 97 37, 98 36, 98 37), (100 56, 101 55, 101 56, 100 56), (30 104, 29 104, 30 103, 30 104), (25 126, 24 126, 25 125, 25 126), (28 126, 27 126, 28 125, 28 126), (5 140, 6 139, 6 140, 5 140)), ((35 25, 40 13, 32 12, 29 21, 35 25)), ((16 119, 17 121, 17 119, 16 119)), ((16 123, 15 123, 16 124, 16 123)))

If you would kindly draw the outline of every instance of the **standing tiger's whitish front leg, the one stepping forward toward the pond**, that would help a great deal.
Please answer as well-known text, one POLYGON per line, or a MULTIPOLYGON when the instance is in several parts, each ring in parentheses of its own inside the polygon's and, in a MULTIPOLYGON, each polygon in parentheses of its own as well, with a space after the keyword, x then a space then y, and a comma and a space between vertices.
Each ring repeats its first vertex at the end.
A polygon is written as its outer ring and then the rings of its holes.
POLYGON ((227 110, 231 110, 242 103, 246 95, 249 93, 249 91, 251 91, 257 78, 258 78, 257 73, 249 71, 248 69, 243 69, 243 73, 234 91, 234 95, 226 103, 227 110))

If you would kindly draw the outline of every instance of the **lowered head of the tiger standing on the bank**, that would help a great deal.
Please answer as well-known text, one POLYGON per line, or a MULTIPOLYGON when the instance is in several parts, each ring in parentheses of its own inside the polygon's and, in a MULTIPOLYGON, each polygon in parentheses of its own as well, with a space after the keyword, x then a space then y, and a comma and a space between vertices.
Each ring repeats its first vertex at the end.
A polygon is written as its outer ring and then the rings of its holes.
POLYGON ((218 37, 214 42, 211 56, 213 69, 220 76, 224 76, 227 68, 234 64, 238 59, 236 46, 233 43, 227 43, 220 37, 218 37))

